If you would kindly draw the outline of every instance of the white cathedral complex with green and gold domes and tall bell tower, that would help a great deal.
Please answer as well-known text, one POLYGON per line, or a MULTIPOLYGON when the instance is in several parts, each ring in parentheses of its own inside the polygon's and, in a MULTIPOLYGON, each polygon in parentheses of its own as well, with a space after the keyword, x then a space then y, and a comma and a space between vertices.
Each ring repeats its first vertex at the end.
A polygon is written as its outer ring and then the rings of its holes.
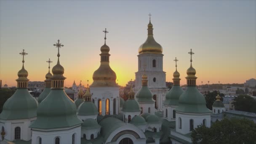
MULTIPOLYGON (((85 93, 80 85, 75 102, 64 91, 64 67, 61 66, 58 40, 57 63, 45 75, 45 89, 38 101, 27 89, 29 79, 24 66, 18 72, 17 90, 0 113, 0 144, 190 144, 191 132, 198 125, 211 126, 211 114, 204 96, 197 90, 196 70, 187 69, 187 88, 180 87, 180 74, 173 73, 173 87, 165 87, 163 48, 153 37, 149 19, 148 36, 139 47, 136 87, 130 88, 128 100, 119 95, 116 74, 111 69, 110 48, 100 48, 100 65, 93 73, 93 83, 85 93)), ((50 61, 50 60, 49 60, 50 61)), ((75 83, 75 81, 74 81, 75 83)), ((74 86, 75 87, 75 86, 74 86)), ((214 113, 223 110, 219 96, 214 113)))

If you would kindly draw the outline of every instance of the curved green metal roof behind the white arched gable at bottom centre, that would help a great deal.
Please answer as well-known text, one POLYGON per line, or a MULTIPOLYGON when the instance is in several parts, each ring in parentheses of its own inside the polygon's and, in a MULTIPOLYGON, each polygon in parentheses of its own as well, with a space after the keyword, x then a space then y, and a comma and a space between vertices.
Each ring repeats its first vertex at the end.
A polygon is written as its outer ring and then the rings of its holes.
POLYGON ((125 123, 115 117, 107 117, 101 120, 99 125, 101 125, 101 135, 104 137, 104 141, 106 141, 113 131, 125 125, 125 123))

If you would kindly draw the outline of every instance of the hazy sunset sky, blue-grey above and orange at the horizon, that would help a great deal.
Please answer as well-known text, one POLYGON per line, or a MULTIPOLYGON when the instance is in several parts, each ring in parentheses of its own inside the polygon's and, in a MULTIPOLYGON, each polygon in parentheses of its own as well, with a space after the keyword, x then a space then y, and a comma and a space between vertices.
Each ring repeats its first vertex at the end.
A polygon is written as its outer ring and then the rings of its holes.
POLYGON ((0 79, 16 86, 24 67, 30 81, 43 81, 49 58, 56 65, 57 40, 65 86, 87 85, 100 65, 105 28, 110 67, 119 85, 135 79, 138 48, 147 39, 151 13, 154 38, 163 47, 163 70, 172 82, 175 57, 186 84, 190 48, 197 84, 244 83, 256 78, 256 0, 81 1, 0 0, 0 79))

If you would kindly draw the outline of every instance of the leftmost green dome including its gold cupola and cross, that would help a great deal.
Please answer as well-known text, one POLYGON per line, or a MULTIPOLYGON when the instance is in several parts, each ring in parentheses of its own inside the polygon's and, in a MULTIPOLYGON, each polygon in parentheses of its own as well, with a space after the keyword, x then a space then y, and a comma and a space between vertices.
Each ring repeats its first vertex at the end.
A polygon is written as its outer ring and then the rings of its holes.
POLYGON ((28 72, 24 68, 24 56, 27 53, 21 52, 23 56, 22 69, 18 72, 17 90, 3 104, 3 111, 0 114, 1 120, 29 119, 37 116, 37 102, 27 90, 28 72))

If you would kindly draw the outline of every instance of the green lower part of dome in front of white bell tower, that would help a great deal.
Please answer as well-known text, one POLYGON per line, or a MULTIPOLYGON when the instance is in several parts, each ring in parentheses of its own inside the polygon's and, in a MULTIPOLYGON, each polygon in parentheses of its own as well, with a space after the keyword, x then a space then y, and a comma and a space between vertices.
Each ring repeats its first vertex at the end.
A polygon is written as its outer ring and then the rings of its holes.
POLYGON ((141 86, 141 89, 136 94, 138 102, 155 102, 152 99, 152 93, 147 86, 141 86))

